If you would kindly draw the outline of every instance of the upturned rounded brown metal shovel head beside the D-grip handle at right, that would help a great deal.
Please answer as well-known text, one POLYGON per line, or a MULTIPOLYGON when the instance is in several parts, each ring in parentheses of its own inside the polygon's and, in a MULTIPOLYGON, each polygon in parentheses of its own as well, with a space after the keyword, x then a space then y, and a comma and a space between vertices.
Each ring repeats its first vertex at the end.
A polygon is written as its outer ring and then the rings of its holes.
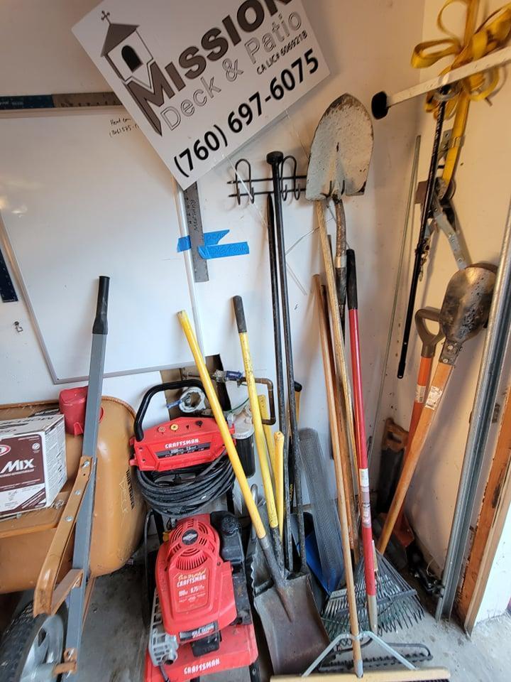
POLYGON ((480 332, 488 322, 494 286, 491 265, 470 265, 451 277, 440 310, 447 342, 461 345, 480 332))

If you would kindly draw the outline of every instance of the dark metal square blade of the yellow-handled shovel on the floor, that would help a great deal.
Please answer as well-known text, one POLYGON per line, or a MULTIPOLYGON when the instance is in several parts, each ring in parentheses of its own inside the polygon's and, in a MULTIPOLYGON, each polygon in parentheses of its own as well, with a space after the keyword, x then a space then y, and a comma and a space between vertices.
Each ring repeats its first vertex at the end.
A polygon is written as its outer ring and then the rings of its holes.
POLYGON ((285 612, 277 590, 268 588, 254 599, 270 651, 275 675, 302 673, 329 645, 329 637, 306 575, 286 580, 292 617, 285 612))

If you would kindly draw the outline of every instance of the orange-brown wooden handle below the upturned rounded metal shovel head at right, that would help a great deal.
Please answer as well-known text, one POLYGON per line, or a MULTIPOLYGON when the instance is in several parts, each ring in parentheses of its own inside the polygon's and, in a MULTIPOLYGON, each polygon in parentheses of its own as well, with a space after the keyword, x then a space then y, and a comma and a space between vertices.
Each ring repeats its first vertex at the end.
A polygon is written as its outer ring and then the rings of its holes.
POLYGON ((419 462, 422 448, 424 448, 424 443, 426 442, 434 416, 438 410, 441 397, 444 394, 447 381, 449 381, 449 377, 451 376, 452 369, 450 364, 439 363, 436 366, 427 401, 419 418, 419 423, 417 424, 410 450, 408 450, 406 461, 403 464, 400 480, 397 482, 394 499, 392 499, 392 504, 390 505, 387 518, 385 519, 385 525, 383 526, 380 540, 378 541, 378 551, 382 554, 387 548, 390 536, 392 535, 392 530, 397 521, 397 516, 399 516, 403 502, 405 502, 405 497, 408 488, 410 487, 410 483, 412 482, 417 462, 419 462))

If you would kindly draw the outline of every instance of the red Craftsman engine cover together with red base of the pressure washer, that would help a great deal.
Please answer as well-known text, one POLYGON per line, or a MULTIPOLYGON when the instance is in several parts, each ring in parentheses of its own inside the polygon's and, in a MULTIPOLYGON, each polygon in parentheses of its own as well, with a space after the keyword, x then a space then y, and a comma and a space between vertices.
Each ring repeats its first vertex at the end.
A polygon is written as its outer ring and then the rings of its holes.
MULTIPOLYGON (((170 682, 253 664, 258 656, 253 623, 238 622, 233 565, 220 553, 209 514, 179 521, 156 559, 163 626, 177 637, 177 658, 162 665, 170 682), (218 649, 194 653, 194 642, 221 630, 218 649)), ((162 682, 162 669, 145 654, 144 682, 162 682)))

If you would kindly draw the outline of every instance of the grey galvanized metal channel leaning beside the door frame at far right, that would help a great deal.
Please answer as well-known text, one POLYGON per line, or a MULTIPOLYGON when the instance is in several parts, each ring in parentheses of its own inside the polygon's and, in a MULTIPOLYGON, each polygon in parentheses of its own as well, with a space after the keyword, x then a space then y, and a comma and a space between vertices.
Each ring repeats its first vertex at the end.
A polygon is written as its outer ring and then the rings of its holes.
POLYGON ((511 202, 502 239, 500 262, 493 291, 493 301, 488 318, 483 356, 481 357, 476 396, 468 429, 463 468, 454 508, 454 518, 449 537, 446 563, 442 575, 441 596, 436 605, 435 617, 449 618, 454 605, 463 556, 480 472, 483 466, 485 446, 492 421, 495 399, 505 350, 511 329, 511 202))

